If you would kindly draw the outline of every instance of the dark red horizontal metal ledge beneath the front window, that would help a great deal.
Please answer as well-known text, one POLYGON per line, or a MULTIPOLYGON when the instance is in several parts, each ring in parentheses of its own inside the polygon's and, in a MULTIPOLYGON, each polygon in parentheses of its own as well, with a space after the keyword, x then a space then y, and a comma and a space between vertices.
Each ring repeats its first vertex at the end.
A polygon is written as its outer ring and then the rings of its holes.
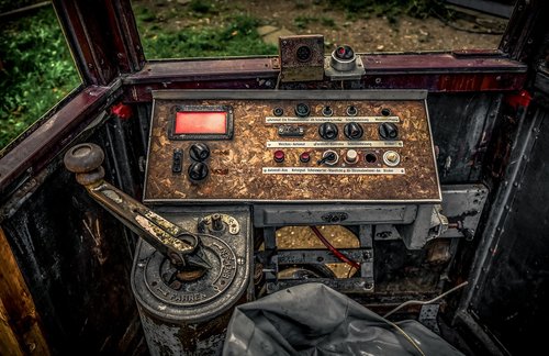
MULTIPOLYGON (((526 81, 524 64, 500 53, 452 55, 363 54, 365 89, 427 89, 433 92, 512 91, 526 81)), ((123 78, 124 100, 147 102, 157 89, 274 89, 279 70, 272 57, 150 62, 123 78)), ((340 84, 311 81, 299 88, 340 89, 340 84)), ((292 89, 284 84, 281 89, 292 89)))

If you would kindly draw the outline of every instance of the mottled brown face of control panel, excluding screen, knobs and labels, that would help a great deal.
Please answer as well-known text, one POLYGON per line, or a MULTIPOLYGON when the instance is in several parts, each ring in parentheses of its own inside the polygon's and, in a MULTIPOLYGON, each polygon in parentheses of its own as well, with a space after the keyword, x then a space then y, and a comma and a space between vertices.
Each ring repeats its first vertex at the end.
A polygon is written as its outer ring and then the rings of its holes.
MULTIPOLYGON (((184 98, 184 96, 182 96, 184 98)), ((404 175, 269 175, 265 167, 318 167, 316 160, 326 148, 284 148, 283 164, 273 162, 273 148, 267 148, 267 142, 284 141, 278 135, 277 124, 266 124, 265 118, 272 115, 272 110, 282 108, 292 115, 299 100, 159 100, 156 101, 153 118, 150 151, 146 178, 145 200, 438 200, 438 180, 435 173, 433 147, 422 100, 374 101, 374 100, 309 100, 311 116, 322 116, 324 105, 330 105, 334 116, 345 115, 348 105, 355 104, 361 115, 379 115, 382 108, 390 108, 392 115, 400 116, 399 140, 404 144, 395 148, 402 156, 397 168, 404 168, 404 175), (183 175, 171 170, 173 149, 184 153, 184 171, 190 163, 188 152, 192 141, 170 141, 167 132, 173 107, 180 104, 232 105, 234 110, 234 137, 231 141, 209 141, 211 175, 201 183, 193 183, 183 175), (310 152, 311 162, 300 163, 300 154, 310 152)), ((341 98, 343 99, 343 98, 341 98)), ((326 119, 327 121, 327 119, 326 119)), ((322 122, 321 122, 322 123, 322 122)), ((320 123, 303 124, 305 134, 298 141, 322 141, 318 136, 320 123)), ((344 124, 337 124, 343 135, 344 124)), ((362 124, 363 140, 380 140, 377 123, 362 124)), ((344 137, 344 138, 341 138, 344 137)), ((295 140, 295 138, 294 138, 295 140)), ((285 141, 289 141, 285 138, 285 141)), ((341 157, 333 167, 344 167, 346 149, 334 148, 341 157)), ((388 168, 382 156, 392 148, 361 148, 358 168, 388 168), (377 156, 376 163, 367 164, 366 153, 377 156)), ((347 167, 351 167, 347 165, 347 167)))

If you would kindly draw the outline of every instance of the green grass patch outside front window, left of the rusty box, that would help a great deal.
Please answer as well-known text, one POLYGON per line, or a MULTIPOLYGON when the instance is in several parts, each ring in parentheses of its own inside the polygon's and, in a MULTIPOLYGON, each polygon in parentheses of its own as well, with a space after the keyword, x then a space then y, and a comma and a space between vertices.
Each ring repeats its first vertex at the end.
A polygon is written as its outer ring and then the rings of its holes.
POLYGON ((139 24, 148 58, 274 55, 277 47, 265 44, 257 34, 257 19, 231 18, 219 27, 154 31, 139 24))

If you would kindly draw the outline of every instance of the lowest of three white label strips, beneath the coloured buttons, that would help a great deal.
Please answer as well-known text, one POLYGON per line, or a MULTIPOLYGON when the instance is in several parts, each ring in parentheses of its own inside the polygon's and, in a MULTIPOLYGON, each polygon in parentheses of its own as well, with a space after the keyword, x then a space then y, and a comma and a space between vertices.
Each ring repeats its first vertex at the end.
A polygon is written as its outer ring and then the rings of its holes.
POLYGON ((264 175, 405 175, 404 168, 264 167, 264 175))

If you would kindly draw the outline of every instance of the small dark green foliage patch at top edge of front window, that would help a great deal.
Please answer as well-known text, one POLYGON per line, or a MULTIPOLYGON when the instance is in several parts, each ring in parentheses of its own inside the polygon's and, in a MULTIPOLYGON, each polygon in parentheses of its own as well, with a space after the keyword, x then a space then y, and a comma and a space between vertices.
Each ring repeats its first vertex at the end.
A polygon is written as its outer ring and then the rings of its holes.
POLYGON ((441 0, 333 0, 329 3, 344 9, 350 18, 383 15, 391 23, 396 22, 403 14, 417 19, 426 19, 435 13, 448 14, 441 0))

